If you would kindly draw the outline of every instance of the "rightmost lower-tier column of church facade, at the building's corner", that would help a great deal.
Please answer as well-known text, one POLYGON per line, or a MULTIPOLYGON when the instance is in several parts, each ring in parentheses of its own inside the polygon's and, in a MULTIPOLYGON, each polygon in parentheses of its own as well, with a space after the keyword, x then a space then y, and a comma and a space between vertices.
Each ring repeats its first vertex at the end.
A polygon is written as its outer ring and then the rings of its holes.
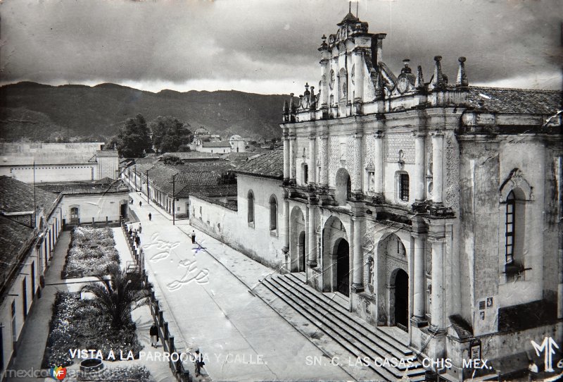
POLYGON ((444 320, 444 259, 443 247, 445 244, 444 238, 431 238, 432 242, 432 292, 431 292, 431 331, 443 332, 445 330, 444 320))

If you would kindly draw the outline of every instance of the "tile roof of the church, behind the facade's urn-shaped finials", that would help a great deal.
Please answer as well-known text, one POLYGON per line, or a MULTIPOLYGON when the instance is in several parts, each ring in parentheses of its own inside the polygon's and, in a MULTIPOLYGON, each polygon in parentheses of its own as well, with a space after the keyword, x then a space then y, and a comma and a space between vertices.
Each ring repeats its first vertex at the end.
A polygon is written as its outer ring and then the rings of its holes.
POLYGON ((469 87, 469 106, 498 113, 554 114, 562 109, 562 93, 552 90, 469 87))

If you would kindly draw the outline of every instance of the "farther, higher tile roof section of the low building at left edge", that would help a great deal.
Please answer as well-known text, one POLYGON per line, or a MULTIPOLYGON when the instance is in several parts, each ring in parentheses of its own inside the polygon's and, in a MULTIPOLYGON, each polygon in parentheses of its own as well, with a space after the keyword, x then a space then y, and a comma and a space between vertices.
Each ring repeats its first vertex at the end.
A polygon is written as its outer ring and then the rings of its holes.
POLYGON ((8 176, 0 176, 0 211, 22 212, 34 211, 34 197, 37 205, 44 204, 45 215, 51 214, 55 207, 57 195, 46 192, 39 187, 20 182, 8 176))

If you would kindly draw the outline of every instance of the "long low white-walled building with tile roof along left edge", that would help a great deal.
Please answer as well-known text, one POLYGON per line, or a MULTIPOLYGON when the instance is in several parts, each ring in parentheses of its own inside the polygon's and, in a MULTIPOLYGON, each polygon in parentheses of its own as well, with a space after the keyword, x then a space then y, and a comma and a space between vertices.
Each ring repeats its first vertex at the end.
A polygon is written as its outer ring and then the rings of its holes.
POLYGON ((0 176, 0 376, 17 355, 51 264, 63 228, 60 204, 61 195, 0 176))

